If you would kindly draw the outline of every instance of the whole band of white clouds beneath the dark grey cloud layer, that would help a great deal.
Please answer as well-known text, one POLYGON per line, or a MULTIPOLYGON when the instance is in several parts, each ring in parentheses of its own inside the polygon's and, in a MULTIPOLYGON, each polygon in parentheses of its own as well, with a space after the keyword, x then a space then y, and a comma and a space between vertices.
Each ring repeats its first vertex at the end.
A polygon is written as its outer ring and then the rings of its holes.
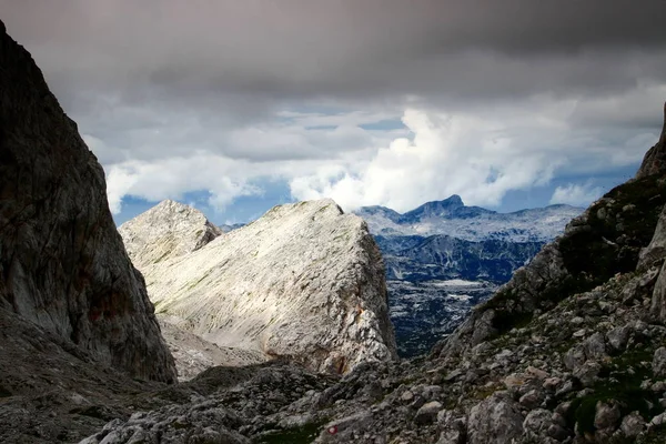
MULTIPOLYGON (((122 155, 111 155, 102 138, 87 137, 107 160, 115 213, 124 195, 158 201, 195 191, 208 191, 209 204, 223 209, 261 194, 255 183, 266 179, 289 183, 294 199, 327 196, 346 210, 381 204, 404 211, 451 194, 494 206, 508 191, 545 185, 563 172, 592 176, 634 164, 656 140, 642 128, 579 128, 572 121, 581 115, 576 100, 547 97, 455 113, 414 107, 404 111, 403 129, 385 130, 376 123, 396 121, 395 114, 281 111, 231 129, 194 117, 176 125, 174 115, 163 117, 173 129, 114 141, 132 148, 119 150, 122 155)), ((563 188, 554 199, 587 203, 583 191, 563 188)))

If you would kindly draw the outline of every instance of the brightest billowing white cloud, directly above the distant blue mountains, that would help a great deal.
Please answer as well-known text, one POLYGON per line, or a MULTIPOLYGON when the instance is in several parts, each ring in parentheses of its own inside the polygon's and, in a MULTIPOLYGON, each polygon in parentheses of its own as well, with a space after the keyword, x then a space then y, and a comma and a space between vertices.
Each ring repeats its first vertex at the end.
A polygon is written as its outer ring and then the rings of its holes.
POLYGON ((292 194, 329 196, 347 210, 381 204, 405 211, 451 194, 468 204, 498 205, 511 190, 548 183, 556 169, 581 154, 575 141, 565 140, 561 113, 562 105, 541 113, 505 112, 500 119, 492 112, 448 115, 410 109, 403 122, 413 140, 393 140, 363 165, 325 165, 295 176, 292 194))

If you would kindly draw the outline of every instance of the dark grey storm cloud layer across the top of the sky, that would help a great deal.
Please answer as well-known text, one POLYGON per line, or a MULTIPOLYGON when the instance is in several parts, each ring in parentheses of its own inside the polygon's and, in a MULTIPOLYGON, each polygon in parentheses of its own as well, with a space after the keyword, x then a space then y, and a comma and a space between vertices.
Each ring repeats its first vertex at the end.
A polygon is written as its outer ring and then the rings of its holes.
MULTIPOLYGON (((442 100, 606 93, 666 78, 663 0, 0 0, 64 100, 442 100)), ((258 103, 253 105, 252 103, 258 103)))

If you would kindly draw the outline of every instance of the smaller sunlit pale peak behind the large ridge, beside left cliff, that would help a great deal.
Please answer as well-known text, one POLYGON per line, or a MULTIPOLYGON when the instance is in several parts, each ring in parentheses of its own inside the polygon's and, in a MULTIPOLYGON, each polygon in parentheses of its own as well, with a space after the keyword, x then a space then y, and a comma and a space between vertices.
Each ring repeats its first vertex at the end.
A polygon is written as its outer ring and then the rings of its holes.
POLYGON ((172 200, 160 202, 118 231, 139 269, 196 251, 223 234, 201 211, 172 200))

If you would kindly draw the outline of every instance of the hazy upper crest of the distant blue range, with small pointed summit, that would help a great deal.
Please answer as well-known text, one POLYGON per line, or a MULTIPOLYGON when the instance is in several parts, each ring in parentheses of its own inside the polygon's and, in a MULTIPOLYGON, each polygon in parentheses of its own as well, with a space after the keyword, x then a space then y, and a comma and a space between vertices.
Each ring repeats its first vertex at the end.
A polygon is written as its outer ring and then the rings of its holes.
POLYGON ((375 235, 450 235, 478 242, 548 242, 583 209, 549 205, 543 209, 497 213, 478 206, 465 206, 458 195, 427 202, 400 214, 383 206, 363 206, 355 211, 375 235))

